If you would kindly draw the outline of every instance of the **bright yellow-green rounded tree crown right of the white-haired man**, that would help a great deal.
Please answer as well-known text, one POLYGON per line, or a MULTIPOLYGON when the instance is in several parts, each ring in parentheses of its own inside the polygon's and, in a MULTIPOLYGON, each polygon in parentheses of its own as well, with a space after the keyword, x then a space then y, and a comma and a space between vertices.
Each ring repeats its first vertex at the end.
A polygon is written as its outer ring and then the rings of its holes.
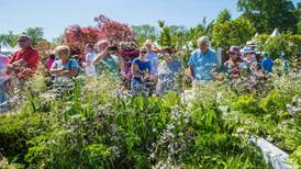
POLYGON ((243 45, 255 34, 254 25, 245 19, 236 19, 213 26, 212 44, 215 47, 228 48, 231 45, 243 45))

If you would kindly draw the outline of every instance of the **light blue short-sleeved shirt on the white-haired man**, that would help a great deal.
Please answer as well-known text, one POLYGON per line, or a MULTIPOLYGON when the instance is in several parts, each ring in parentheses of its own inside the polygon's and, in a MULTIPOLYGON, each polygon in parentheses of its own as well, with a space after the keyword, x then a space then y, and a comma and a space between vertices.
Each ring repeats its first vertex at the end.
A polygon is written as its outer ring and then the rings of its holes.
POLYGON ((211 70, 219 66, 219 58, 214 50, 208 48, 207 53, 196 49, 191 53, 188 65, 193 69, 196 80, 212 80, 211 70))

